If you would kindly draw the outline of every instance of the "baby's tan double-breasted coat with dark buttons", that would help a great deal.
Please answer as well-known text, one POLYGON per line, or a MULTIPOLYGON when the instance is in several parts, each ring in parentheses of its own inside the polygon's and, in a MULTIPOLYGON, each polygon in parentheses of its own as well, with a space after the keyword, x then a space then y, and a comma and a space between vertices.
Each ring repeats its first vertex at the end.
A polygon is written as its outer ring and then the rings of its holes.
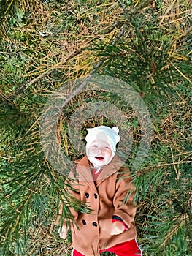
POLYGON ((100 249, 110 248, 137 236, 134 225, 135 187, 128 168, 122 165, 123 162, 115 155, 97 180, 93 181, 88 158, 85 156, 77 161, 74 174, 77 191, 72 192, 72 195, 91 208, 91 214, 70 209, 77 224, 77 227, 72 227, 72 247, 83 255, 99 256, 100 249), (123 219, 128 230, 119 235, 110 235, 113 215, 123 219))

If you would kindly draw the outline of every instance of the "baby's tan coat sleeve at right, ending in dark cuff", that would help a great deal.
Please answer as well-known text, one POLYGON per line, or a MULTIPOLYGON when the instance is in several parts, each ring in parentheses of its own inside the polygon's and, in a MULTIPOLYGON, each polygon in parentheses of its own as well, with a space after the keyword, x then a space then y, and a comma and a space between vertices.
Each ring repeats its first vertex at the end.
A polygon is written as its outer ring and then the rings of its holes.
POLYGON ((134 203, 136 188, 132 181, 133 178, 128 168, 120 168, 113 199, 114 215, 120 217, 128 228, 134 222, 136 214, 136 204, 134 203))

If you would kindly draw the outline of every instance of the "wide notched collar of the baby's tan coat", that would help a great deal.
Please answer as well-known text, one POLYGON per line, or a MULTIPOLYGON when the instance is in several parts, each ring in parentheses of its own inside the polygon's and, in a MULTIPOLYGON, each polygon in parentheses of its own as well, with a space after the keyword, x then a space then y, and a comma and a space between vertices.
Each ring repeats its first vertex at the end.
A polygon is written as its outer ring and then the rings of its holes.
POLYGON ((111 176, 113 173, 118 172, 120 167, 122 167, 124 164, 124 162, 120 160, 120 158, 115 154, 115 157, 113 157, 112 161, 108 165, 104 166, 95 184, 93 181, 88 157, 85 156, 82 159, 75 161, 75 163, 77 163, 76 171, 79 181, 88 182, 94 190, 96 190, 96 187, 98 187, 99 184, 101 184, 106 178, 111 176))

